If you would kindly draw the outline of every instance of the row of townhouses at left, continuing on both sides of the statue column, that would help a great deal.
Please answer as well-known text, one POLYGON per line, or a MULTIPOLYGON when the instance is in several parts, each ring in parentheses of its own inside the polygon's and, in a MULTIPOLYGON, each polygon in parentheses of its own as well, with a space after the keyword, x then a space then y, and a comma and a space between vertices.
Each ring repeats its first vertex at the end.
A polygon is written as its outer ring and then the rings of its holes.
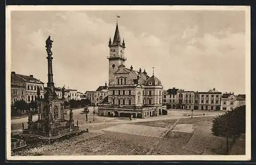
MULTIPOLYGON (((44 98, 46 87, 44 83, 33 77, 25 76, 11 72, 11 104, 23 100, 27 103, 36 101, 37 89, 40 91, 40 98, 44 98)), ((62 88, 55 87, 55 92, 59 99, 62 98, 62 88)), ((81 92, 75 89, 65 89, 65 101, 81 100, 84 98, 81 92)))

